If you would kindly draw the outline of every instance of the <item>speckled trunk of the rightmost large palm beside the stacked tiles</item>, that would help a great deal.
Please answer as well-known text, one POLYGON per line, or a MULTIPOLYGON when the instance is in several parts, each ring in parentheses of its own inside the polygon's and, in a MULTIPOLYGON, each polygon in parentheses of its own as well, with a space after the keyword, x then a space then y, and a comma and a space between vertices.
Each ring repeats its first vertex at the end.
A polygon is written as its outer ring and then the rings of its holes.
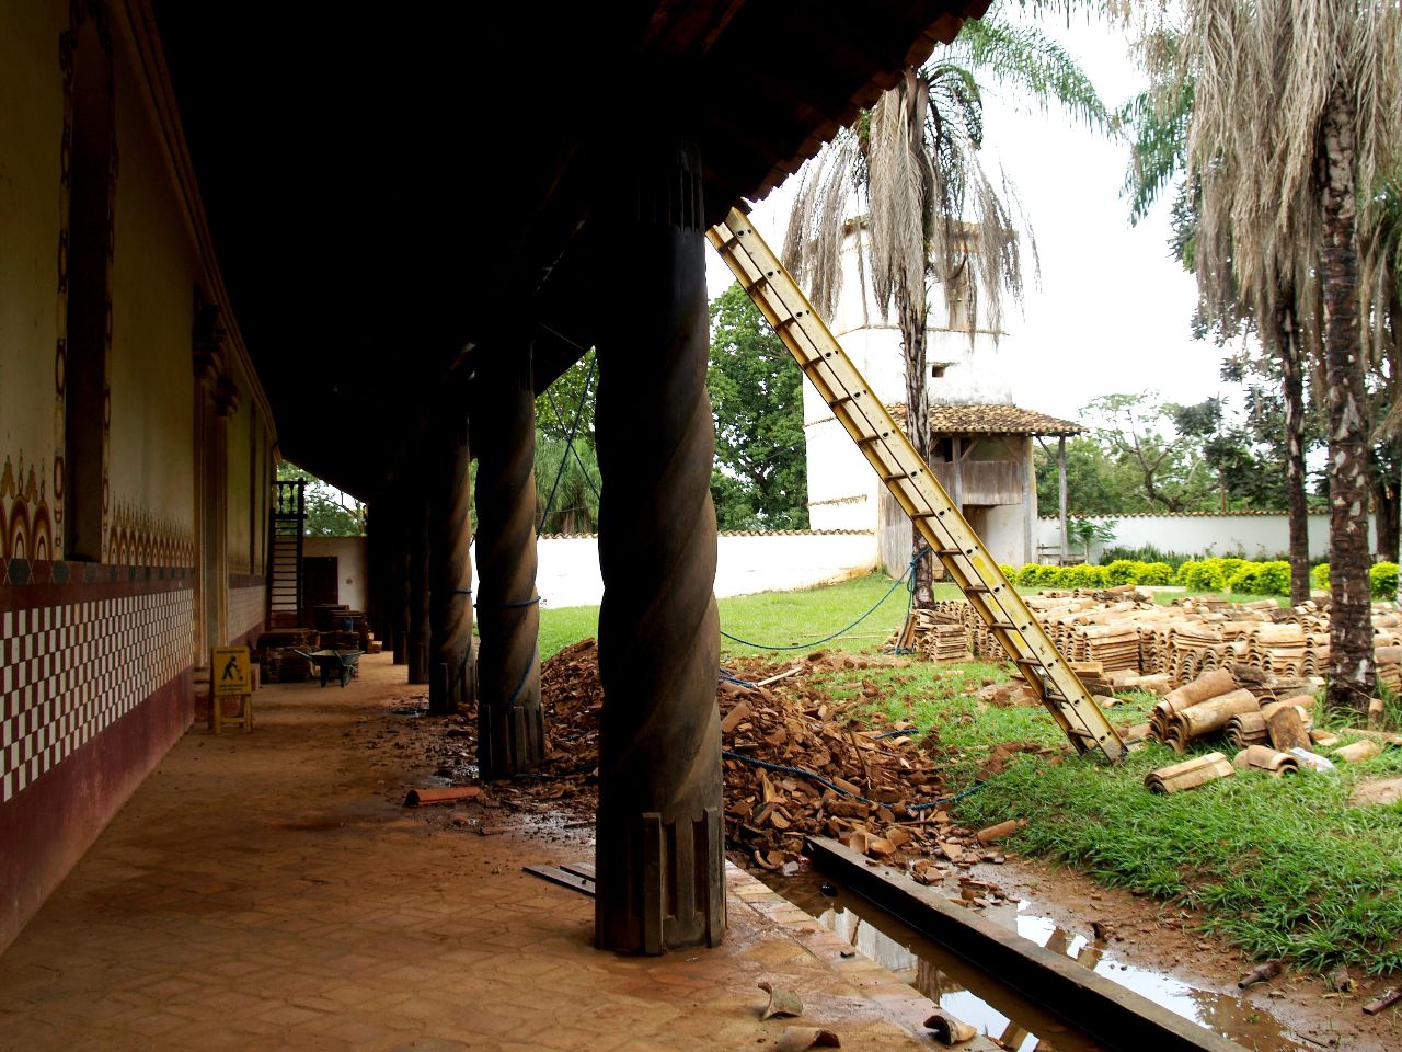
POLYGON ((1338 87, 1319 130, 1319 285, 1329 386, 1330 706, 1366 713, 1375 685, 1368 591, 1368 435, 1359 342, 1354 111, 1338 87))

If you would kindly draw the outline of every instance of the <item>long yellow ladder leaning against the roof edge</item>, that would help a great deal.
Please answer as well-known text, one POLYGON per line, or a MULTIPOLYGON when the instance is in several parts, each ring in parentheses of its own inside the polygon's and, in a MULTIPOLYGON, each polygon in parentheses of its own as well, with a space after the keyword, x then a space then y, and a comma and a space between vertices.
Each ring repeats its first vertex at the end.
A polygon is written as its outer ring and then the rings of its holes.
POLYGON ((1124 742, 1105 713, 750 220, 730 209, 707 238, 1077 752, 1099 749, 1119 760, 1124 742))

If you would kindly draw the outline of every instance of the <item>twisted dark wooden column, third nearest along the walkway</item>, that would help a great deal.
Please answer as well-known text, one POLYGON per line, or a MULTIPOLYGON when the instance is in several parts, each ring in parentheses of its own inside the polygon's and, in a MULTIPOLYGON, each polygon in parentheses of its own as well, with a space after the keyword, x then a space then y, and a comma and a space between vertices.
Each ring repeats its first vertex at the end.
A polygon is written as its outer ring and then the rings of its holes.
POLYGON ((449 412, 430 453, 429 713, 472 701, 472 488, 467 412, 449 412))

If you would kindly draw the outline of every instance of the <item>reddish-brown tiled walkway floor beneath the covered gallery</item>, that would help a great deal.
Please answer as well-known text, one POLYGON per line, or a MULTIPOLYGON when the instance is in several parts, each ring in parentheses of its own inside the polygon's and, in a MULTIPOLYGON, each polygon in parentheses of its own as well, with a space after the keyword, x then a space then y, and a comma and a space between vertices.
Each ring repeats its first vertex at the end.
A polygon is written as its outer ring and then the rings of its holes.
POLYGON ((0 957, 0 1049, 763 1049, 788 1023, 930 1046, 928 1000, 740 871, 723 947, 593 950, 593 901, 522 871, 587 840, 400 807, 423 771, 365 741, 404 670, 362 669, 185 735, 0 957), (805 1017, 761 1023, 761 979, 805 1017))

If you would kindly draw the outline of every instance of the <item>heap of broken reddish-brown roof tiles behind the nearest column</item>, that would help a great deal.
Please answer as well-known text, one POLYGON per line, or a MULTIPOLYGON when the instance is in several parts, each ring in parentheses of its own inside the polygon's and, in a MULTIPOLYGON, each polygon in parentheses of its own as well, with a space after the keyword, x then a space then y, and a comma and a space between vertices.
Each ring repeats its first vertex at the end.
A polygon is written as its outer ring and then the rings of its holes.
MULTIPOLYGON (((725 833, 736 861, 751 870, 794 867, 808 833, 834 836, 873 858, 910 861, 916 879, 927 884, 956 874, 951 867, 1001 861, 997 836, 956 826, 948 808, 937 804, 946 793, 938 741, 908 722, 869 725, 862 720, 861 706, 882 693, 871 680, 859 682, 855 699, 834 699, 824 683, 829 673, 906 663, 829 651, 785 666, 764 658, 733 663, 733 676, 718 685, 716 699, 725 750, 725 833)), ((594 640, 543 663, 541 704, 545 763, 533 778, 494 783, 491 794, 506 807, 592 819, 604 704, 594 640)), ((471 736, 474 722, 465 718, 451 734, 471 736)), ((1019 752, 1056 753, 1036 743, 1000 745, 979 777, 998 773, 1019 752)), ((979 891, 974 881, 962 878, 960 885, 979 891)), ((967 905, 980 903, 969 899, 967 905)))

